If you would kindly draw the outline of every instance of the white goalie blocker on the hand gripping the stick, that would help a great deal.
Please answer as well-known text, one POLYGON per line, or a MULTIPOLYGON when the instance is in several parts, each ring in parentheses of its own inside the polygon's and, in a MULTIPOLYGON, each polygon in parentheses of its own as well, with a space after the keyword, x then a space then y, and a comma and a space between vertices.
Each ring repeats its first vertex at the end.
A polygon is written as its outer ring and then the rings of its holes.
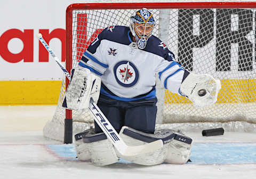
POLYGON ((87 68, 77 67, 66 92, 67 109, 83 110, 89 107, 90 99, 97 103, 101 79, 87 68))

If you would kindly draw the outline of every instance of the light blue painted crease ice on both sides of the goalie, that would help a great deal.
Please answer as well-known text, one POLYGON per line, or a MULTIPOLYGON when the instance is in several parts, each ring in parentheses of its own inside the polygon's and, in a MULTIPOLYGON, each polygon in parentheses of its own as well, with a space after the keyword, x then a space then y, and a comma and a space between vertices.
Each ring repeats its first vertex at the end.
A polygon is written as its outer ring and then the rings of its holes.
MULTIPOLYGON (((60 160, 78 161, 73 144, 45 145, 60 160)), ((189 165, 256 164, 256 143, 195 143, 189 165)), ((120 164, 131 162, 120 159, 120 164)))

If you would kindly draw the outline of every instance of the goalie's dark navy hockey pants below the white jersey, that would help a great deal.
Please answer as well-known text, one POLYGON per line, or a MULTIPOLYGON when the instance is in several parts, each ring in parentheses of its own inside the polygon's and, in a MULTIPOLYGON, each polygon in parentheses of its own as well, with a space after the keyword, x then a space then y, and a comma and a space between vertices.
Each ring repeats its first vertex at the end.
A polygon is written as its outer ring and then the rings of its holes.
MULTIPOLYGON (((145 133, 154 133, 156 125, 157 99, 136 101, 118 101, 100 94, 98 107, 119 133, 123 126, 128 126, 145 133)), ((94 121, 95 132, 102 130, 94 121)))

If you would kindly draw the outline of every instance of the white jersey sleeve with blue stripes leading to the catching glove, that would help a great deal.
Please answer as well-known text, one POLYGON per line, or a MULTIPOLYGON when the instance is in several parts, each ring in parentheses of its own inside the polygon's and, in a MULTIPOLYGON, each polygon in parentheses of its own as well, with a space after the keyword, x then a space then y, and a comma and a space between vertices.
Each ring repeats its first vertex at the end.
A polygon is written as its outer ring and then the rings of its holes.
POLYGON ((188 76, 189 72, 175 61, 174 54, 166 48, 164 55, 159 56, 158 72, 159 79, 164 88, 172 93, 180 94, 180 85, 183 80, 188 76))

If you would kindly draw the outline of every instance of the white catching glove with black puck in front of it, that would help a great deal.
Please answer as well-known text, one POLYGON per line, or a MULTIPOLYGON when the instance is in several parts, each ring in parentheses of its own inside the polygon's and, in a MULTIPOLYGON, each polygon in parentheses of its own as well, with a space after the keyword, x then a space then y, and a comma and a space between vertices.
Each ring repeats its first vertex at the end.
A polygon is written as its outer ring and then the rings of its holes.
POLYGON ((221 89, 219 79, 210 75, 196 75, 190 73, 180 85, 182 95, 188 97, 197 108, 207 107, 217 101, 221 89))

